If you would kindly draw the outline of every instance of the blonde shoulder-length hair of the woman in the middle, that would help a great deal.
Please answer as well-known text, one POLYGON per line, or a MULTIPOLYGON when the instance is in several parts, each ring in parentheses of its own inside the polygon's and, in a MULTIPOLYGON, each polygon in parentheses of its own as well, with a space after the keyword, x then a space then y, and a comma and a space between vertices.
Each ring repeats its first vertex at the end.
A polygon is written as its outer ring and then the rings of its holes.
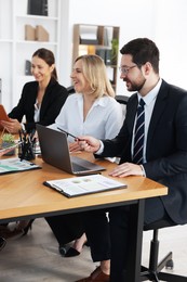
POLYGON ((95 99, 103 95, 115 98, 115 91, 107 76, 104 61, 98 55, 81 55, 75 61, 82 61, 82 73, 90 84, 92 94, 95 99))

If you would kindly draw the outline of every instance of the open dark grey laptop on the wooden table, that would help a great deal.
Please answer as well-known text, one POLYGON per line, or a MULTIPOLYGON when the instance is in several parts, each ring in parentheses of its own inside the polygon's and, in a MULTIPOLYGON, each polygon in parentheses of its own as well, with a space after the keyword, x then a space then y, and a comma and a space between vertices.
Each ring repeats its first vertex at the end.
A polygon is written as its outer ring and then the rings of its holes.
POLYGON ((41 155, 45 163, 71 175, 91 175, 106 168, 77 156, 70 156, 67 134, 37 125, 41 155))

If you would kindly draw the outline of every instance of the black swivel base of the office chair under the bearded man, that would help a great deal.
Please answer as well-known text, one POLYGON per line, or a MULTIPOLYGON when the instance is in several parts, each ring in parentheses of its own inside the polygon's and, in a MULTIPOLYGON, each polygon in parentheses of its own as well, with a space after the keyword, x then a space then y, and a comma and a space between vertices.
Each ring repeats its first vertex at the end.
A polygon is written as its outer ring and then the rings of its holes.
POLYGON ((159 256, 159 229, 153 229, 152 240, 150 242, 150 254, 149 254, 149 267, 146 268, 142 266, 141 280, 139 281, 169 281, 169 282, 187 282, 187 277, 182 277, 178 274, 161 272, 165 267, 173 269, 173 254, 170 252, 160 262, 158 262, 159 256))

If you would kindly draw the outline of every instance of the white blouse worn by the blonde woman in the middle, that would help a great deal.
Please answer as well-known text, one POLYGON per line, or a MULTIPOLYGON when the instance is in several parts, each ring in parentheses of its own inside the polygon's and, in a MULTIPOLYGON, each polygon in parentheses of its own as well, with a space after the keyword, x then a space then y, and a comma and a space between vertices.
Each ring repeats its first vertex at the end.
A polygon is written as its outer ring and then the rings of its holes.
MULTIPOLYGON (((86 134, 97 139, 111 139, 118 134, 122 123, 121 105, 111 97, 97 99, 83 120, 83 97, 76 93, 67 98, 55 124, 50 128, 57 130, 59 127, 76 137, 86 134)), ((68 141, 75 140, 68 136, 68 141)))

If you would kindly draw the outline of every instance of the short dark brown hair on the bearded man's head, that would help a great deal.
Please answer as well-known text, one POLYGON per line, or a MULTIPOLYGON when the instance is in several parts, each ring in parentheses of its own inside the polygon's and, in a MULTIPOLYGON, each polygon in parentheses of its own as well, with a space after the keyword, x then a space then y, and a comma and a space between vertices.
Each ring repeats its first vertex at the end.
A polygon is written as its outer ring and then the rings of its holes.
POLYGON ((136 38, 126 44, 121 50, 121 54, 131 54, 133 62, 139 67, 149 62, 153 70, 159 73, 160 53, 156 43, 148 38, 136 38))

